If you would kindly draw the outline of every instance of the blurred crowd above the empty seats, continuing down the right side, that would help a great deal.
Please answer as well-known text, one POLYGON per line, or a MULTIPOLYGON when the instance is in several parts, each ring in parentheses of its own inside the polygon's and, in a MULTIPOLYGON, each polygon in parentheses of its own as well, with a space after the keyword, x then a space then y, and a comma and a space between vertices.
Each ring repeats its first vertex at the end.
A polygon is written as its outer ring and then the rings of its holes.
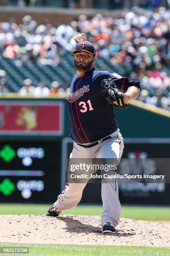
POLYGON ((121 18, 80 15, 57 27, 47 19, 38 25, 30 15, 20 25, 10 18, 0 23, 0 49, 7 58, 57 65, 75 48, 80 32, 95 45, 98 57, 113 67, 128 65, 128 77, 141 82, 140 101, 170 110, 170 11, 165 8, 143 13, 134 7, 121 18))

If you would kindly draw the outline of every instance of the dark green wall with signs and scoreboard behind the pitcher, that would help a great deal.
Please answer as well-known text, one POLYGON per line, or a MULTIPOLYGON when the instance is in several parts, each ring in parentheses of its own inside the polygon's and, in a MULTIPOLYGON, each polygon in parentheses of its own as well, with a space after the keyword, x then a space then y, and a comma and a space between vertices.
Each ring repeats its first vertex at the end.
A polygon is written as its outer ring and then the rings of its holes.
MULTIPOLYGON (((128 110, 115 112, 125 141, 122 158, 169 158, 167 111, 148 111, 133 101, 128 110)), ((64 99, 1 98, 0 202, 56 200, 66 182, 65 163, 72 151, 69 133, 64 99)), ((165 183, 119 186, 120 201, 126 203, 170 204, 169 192, 165 183)), ((87 185, 82 202, 101 202, 100 184, 87 185)))

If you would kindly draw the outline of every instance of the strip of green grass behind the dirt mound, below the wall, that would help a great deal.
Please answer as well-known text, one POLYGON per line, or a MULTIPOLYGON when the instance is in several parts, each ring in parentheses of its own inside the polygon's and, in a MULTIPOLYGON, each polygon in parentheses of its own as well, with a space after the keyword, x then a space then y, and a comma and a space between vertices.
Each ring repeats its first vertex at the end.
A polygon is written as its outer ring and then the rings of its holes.
MULTIPOLYGON (((50 205, 0 204, 0 214, 45 214, 50 205)), ((101 215, 101 205, 77 205, 63 214, 101 215)), ((122 218, 139 220, 170 220, 170 207, 122 206, 122 218)))

